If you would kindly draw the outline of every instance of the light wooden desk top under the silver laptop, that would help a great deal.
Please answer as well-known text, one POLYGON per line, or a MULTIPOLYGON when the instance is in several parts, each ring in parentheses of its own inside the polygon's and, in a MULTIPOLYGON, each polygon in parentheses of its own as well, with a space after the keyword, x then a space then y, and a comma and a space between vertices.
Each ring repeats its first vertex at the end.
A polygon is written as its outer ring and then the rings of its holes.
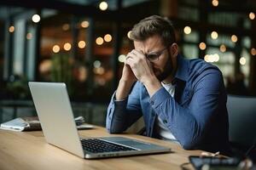
MULTIPOLYGON (((79 131, 81 137, 114 136, 103 127, 79 131)), ((116 135, 115 135, 116 136, 116 135)), ((174 153, 148 156, 127 156, 100 160, 84 160, 78 156, 47 144, 41 131, 12 132, 0 130, 0 169, 50 170, 50 169, 181 169, 179 166, 188 162, 188 156, 199 155, 201 150, 183 150, 178 144, 159 139, 151 139, 135 134, 119 135, 131 139, 141 139, 154 144, 172 148, 174 153)))

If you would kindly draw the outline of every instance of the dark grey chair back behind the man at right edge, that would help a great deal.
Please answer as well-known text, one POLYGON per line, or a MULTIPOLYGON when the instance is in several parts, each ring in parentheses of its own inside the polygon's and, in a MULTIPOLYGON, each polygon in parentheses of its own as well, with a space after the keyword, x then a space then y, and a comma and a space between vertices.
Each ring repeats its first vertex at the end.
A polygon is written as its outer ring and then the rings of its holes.
POLYGON ((230 144, 247 150, 256 140, 256 98, 228 95, 230 144))

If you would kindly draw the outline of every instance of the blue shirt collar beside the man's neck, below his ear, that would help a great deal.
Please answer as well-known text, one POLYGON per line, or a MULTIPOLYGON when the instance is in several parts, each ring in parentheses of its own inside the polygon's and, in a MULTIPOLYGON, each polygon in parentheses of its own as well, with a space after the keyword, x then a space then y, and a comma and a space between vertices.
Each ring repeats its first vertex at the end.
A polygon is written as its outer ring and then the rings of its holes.
POLYGON ((177 72, 175 79, 178 78, 184 82, 188 81, 189 78, 189 60, 183 59, 180 54, 177 55, 177 72))

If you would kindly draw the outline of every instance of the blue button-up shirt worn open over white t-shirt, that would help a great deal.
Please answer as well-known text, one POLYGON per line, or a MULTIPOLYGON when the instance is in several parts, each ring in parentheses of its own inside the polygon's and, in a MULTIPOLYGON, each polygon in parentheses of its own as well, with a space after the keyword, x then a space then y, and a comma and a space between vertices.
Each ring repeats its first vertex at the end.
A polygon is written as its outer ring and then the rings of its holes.
POLYGON ((160 88, 150 99, 147 89, 136 82, 122 101, 113 97, 108 105, 107 129, 121 133, 143 116, 146 134, 156 137, 156 116, 166 124, 184 149, 228 149, 228 112, 221 71, 202 59, 177 56, 174 97, 160 88))

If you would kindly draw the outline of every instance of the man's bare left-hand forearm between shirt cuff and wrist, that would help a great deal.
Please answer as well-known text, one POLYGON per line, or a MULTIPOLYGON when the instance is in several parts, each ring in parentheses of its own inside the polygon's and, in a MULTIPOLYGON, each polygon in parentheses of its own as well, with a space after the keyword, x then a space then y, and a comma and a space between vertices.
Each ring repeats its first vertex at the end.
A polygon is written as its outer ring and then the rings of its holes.
POLYGON ((125 99, 130 93, 133 83, 134 82, 120 79, 119 86, 116 90, 115 99, 116 100, 125 99))

